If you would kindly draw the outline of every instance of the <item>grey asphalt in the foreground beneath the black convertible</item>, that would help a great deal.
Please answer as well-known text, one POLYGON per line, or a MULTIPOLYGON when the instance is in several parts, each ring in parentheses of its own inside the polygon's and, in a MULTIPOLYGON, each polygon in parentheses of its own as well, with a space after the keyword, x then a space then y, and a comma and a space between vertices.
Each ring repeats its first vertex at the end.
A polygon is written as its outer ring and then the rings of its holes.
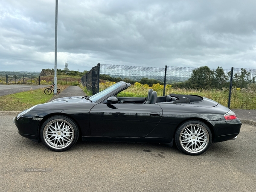
POLYGON ((0 115, 1 192, 256 191, 255 126, 199 156, 147 143, 79 142, 53 152, 21 137, 13 117, 0 115))

